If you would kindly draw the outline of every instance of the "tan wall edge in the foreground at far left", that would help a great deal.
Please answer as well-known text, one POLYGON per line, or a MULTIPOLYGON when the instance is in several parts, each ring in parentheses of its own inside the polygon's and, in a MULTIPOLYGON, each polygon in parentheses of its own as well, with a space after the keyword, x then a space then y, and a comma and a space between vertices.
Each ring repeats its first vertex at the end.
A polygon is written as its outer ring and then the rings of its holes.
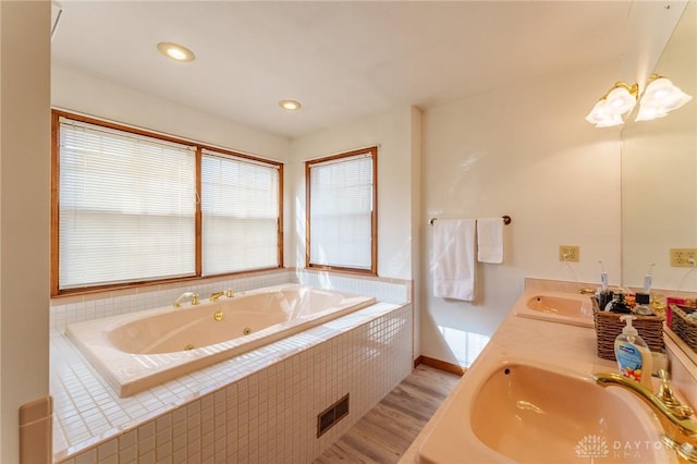
MULTIPOLYGON (((48 395, 50 3, 0 2, 0 462, 48 395)), ((41 443, 35 443, 41 447, 41 443)))

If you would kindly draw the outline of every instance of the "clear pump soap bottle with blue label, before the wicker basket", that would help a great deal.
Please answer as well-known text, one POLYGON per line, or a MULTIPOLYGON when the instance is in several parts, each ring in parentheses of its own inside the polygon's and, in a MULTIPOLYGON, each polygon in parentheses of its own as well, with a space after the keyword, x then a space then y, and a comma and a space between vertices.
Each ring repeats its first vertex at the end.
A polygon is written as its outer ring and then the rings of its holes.
POLYGON ((634 316, 621 316, 626 326, 614 340, 614 356, 620 373, 632 380, 651 389, 651 351, 639 332, 632 326, 634 316))

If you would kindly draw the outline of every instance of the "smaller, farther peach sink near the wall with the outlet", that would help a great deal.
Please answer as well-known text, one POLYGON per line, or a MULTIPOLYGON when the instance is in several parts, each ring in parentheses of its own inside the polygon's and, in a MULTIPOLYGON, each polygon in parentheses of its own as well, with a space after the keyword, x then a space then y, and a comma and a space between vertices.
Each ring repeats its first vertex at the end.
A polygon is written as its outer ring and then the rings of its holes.
POLYGON ((573 293, 538 292, 514 309, 516 316, 592 327, 592 300, 573 293))

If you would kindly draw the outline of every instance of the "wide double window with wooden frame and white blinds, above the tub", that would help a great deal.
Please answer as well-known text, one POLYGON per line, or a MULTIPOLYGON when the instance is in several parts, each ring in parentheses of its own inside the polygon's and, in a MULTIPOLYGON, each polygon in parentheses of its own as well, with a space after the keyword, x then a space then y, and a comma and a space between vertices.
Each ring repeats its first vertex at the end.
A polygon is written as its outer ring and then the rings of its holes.
POLYGON ((281 163, 60 111, 53 124, 53 295, 282 266, 281 163))

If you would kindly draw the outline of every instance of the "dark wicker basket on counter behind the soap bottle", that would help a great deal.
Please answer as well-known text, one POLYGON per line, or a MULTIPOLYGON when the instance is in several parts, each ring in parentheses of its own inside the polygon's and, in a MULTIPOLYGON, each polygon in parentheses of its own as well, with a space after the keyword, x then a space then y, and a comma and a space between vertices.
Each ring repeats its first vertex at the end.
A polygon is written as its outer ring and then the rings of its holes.
MULTIPOLYGON (((622 329, 626 326, 616 313, 600 310, 598 305, 594 305, 592 318, 596 326, 596 344, 598 357, 615 361, 614 341, 622 329)), ((632 326, 639 332, 651 351, 662 352, 663 343, 663 320, 662 316, 639 316, 634 315, 632 326)))

